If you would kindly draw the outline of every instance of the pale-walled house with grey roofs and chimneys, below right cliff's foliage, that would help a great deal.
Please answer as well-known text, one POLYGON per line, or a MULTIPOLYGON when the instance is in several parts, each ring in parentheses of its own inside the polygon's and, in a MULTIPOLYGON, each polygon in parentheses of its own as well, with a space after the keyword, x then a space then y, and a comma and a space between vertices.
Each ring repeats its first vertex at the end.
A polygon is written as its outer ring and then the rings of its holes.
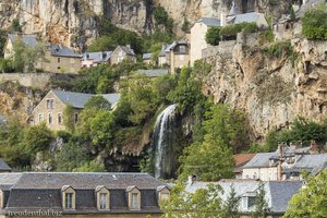
POLYGON ((302 180, 301 171, 316 174, 327 167, 327 154, 313 147, 279 146, 275 153, 256 154, 242 167, 242 179, 302 180))

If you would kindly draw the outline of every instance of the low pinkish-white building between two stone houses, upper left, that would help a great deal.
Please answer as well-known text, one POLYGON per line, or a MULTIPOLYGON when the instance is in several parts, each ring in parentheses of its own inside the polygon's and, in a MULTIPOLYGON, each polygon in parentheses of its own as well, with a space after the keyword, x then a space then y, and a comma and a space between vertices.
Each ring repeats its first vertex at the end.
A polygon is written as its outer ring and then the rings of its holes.
POLYGON ((110 64, 112 51, 86 52, 82 58, 82 68, 92 68, 99 64, 110 64))

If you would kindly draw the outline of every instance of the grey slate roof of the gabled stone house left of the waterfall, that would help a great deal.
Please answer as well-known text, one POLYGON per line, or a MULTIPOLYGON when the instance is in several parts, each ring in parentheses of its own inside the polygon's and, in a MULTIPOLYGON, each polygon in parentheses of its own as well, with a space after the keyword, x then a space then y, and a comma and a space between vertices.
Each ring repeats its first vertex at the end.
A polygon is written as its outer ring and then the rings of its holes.
MULTIPOLYGON (((84 105, 92 98, 93 94, 73 93, 65 90, 52 90, 53 94, 65 105, 71 105, 74 108, 84 108, 84 105)), ((120 99, 120 94, 105 94, 102 95, 113 107, 120 99)))

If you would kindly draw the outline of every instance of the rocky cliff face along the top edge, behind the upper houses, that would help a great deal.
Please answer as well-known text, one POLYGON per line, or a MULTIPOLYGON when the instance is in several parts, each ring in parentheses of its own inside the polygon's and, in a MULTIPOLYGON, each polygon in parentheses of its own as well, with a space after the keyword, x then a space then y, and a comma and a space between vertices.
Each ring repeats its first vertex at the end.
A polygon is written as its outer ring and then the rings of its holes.
MULTIPOLYGON (((287 1, 271 2, 235 0, 235 5, 240 13, 261 11, 277 16, 289 9, 287 1)), ((149 33, 157 5, 169 12, 181 34, 184 17, 191 24, 201 16, 220 17, 221 10, 231 9, 232 0, 0 0, 0 25, 8 28, 19 19, 25 34, 82 50, 99 35, 102 16, 122 28, 149 33)))

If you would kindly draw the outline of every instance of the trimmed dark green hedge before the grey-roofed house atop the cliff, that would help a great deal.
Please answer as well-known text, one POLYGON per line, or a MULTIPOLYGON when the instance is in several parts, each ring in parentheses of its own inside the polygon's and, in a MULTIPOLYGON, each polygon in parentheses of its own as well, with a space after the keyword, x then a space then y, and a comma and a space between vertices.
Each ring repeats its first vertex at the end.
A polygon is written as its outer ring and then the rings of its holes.
POLYGON ((220 28, 220 36, 222 36, 222 38, 237 37, 238 33, 242 31, 244 33, 257 32, 256 23, 243 22, 239 24, 231 24, 231 25, 223 26, 220 28))

